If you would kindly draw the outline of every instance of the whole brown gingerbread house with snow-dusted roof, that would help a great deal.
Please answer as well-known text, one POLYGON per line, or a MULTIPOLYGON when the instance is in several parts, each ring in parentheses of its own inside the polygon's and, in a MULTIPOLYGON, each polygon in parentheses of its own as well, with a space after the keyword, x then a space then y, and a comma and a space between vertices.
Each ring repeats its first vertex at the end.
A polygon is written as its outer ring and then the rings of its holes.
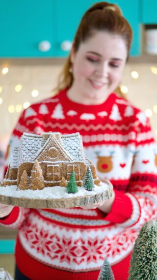
MULTIPOLYGON (((44 187, 61 186, 68 182, 72 171, 78 186, 82 182, 90 166, 95 185, 100 184, 95 166, 84 152, 80 134, 62 135, 59 132, 47 132, 42 135, 24 133, 20 147, 14 148, 3 186, 17 185, 22 177, 28 176, 27 188, 31 180, 34 165, 40 168, 44 187)), ((40 188, 40 187, 39 187, 40 188)))

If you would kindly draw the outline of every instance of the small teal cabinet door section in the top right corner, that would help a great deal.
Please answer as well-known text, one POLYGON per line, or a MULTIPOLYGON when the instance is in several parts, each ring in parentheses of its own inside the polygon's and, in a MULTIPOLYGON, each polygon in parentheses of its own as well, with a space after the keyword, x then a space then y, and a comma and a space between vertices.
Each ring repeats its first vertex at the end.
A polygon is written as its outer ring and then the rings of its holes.
POLYGON ((142 23, 157 24, 157 0, 142 0, 142 23))

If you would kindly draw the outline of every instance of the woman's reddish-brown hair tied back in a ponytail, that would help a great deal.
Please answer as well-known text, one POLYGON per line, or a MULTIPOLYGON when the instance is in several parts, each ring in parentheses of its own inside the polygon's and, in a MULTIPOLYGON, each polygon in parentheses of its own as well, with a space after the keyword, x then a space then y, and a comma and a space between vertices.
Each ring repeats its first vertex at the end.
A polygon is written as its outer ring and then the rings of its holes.
MULTIPOLYGON (((126 43, 129 57, 132 30, 130 24, 123 17, 122 12, 117 5, 107 2, 98 2, 85 12, 74 38, 74 51, 77 52, 80 44, 92 37, 96 31, 107 31, 120 35, 126 43)), ((73 84, 73 74, 69 71, 70 68, 71 62, 69 55, 67 61, 65 62, 63 71, 59 76, 58 86, 55 91, 58 92, 64 88, 71 87, 73 84)), ((118 91, 120 91, 119 88, 118 91)), ((121 92, 119 93, 121 94, 121 92)))

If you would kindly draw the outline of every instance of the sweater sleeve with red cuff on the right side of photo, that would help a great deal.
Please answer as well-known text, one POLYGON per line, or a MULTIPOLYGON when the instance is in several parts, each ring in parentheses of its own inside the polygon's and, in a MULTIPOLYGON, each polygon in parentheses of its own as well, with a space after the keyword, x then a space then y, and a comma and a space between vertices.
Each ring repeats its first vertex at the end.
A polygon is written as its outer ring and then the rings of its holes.
POLYGON ((137 130, 127 192, 115 190, 111 212, 105 216, 107 221, 131 228, 157 218, 157 145, 148 119, 137 130))

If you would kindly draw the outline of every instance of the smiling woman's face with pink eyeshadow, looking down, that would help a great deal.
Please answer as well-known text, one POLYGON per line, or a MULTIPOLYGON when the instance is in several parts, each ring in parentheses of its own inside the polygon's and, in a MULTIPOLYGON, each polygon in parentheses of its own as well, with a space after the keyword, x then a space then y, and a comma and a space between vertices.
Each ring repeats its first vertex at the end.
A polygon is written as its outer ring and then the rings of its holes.
POLYGON ((74 82, 77 101, 99 104, 114 92, 122 79, 127 59, 124 39, 106 31, 97 31, 80 44, 77 53, 72 49, 74 82))

